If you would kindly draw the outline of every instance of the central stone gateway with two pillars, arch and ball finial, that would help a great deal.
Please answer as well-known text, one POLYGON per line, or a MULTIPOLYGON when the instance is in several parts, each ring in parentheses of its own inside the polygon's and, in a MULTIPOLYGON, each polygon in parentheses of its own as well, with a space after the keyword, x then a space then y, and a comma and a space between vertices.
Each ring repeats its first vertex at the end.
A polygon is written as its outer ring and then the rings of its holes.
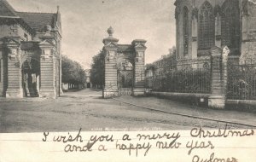
POLYGON ((105 84, 103 97, 118 95, 144 95, 145 46, 143 39, 131 44, 119 44, 113 38, 113 28, 108 28, 108 38, 103 39, 105 55, 105 84))

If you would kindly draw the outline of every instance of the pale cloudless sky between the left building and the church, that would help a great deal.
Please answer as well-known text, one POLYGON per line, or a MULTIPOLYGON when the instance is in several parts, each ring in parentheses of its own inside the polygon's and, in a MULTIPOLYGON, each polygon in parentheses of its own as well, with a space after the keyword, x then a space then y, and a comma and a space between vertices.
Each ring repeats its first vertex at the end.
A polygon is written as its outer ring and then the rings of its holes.
POLYGON ((129 44, 147 40, 146 63, 175 45, 174 0, 8 0, 17 11, 55 13, 60 6, 62 55, 90 68, 112 26, 113 37, 129 44))

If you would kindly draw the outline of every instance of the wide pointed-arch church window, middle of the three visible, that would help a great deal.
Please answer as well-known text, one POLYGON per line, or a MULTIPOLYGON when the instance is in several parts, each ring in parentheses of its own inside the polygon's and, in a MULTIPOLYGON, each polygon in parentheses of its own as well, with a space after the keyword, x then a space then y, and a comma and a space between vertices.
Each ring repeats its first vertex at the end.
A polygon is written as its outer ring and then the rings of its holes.
POLYGON ((212 5, 205 2, 201 6, 199 16, 198 48, 211 49, 215 43, 214 39, 214 13, 212 5))

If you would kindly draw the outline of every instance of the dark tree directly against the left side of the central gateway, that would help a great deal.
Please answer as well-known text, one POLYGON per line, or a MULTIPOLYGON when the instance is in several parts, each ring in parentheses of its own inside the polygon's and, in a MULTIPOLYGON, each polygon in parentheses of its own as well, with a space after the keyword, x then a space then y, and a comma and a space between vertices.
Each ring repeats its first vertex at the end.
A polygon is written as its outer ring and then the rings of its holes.
POLYGON ((102 50, 92 58, 90 81, 95 88, 102 88, 105 80, 104 53, 102 50))

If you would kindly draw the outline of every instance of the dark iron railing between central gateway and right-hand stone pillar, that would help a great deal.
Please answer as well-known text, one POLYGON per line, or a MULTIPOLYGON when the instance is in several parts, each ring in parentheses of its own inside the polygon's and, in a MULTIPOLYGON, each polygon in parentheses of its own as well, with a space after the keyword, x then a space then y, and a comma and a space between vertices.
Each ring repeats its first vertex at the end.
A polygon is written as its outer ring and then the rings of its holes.
POLYGON ((146 78, 146 88, 161 92, 211 93, 211 69, 172 70, 146 78))

